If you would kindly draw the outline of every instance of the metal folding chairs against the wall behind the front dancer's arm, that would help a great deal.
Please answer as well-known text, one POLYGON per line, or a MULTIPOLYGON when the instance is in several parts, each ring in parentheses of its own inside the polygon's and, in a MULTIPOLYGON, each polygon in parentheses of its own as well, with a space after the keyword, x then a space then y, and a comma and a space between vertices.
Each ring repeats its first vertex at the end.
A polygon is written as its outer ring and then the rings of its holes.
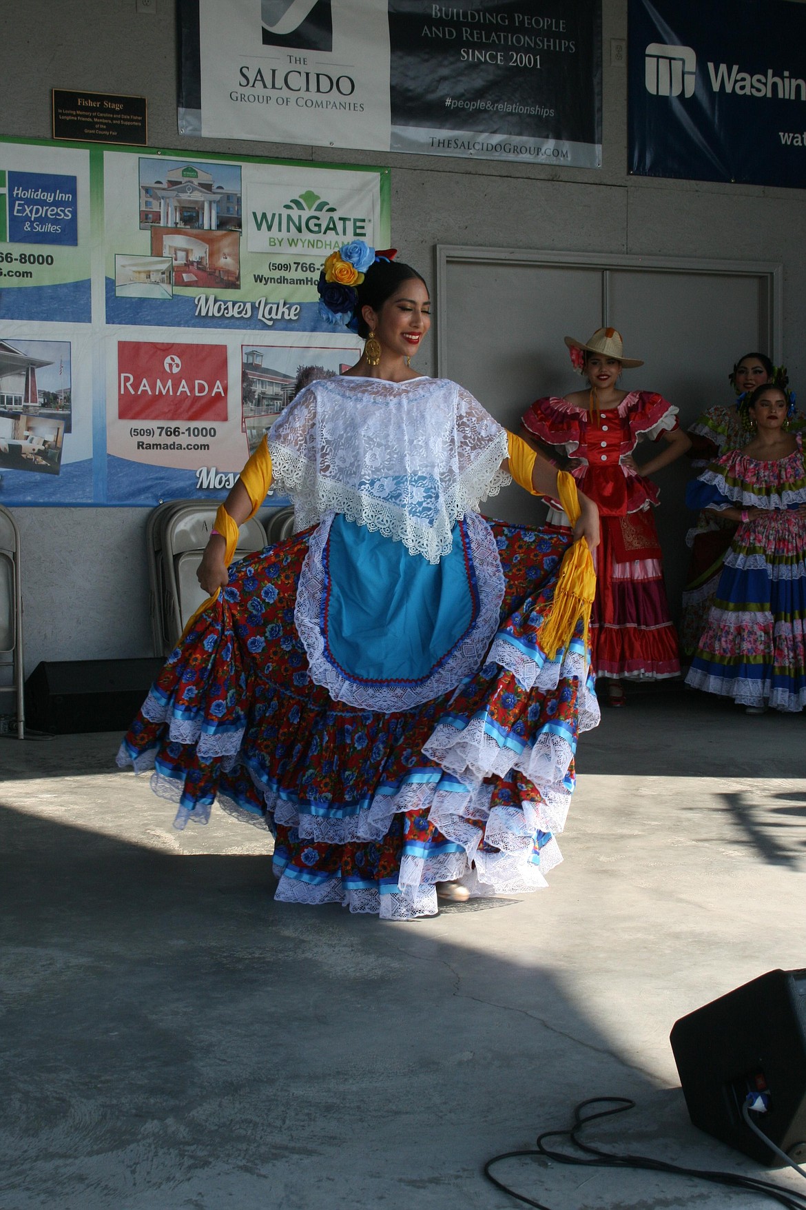
MULTIPOLYGON (((146 546, 155 656, 170 655, 187 621, 207 598, 199 588, 196 571, 214 526, 216 509, 218 503, 213 502, 170 500, 149 514, 146 546)), ((232 561, 280 542, 292 531, 292 508, 263 509, 240 526, 232 561)))

